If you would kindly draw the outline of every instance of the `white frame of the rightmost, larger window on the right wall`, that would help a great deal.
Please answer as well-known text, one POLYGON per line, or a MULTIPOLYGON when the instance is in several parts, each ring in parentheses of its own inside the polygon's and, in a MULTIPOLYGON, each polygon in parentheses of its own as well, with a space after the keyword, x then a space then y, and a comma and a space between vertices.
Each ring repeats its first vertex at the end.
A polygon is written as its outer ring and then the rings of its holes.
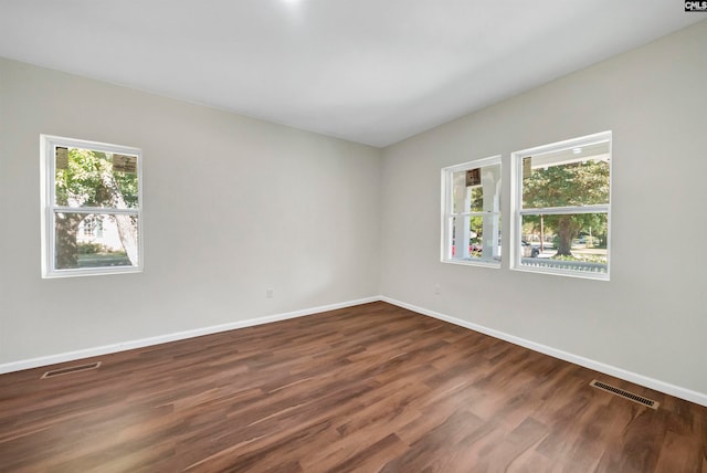
POLYGON ((611 269, 611 193, 612 193, 612 133, 602 132, 579 138, 542 145, 535 148, 523 149, 510 155, 510 269, 514 271, 525 271, 531 273, 555 274, 560 276, 581 277, 588 280, 610 280, 611 269), (546 153, 560 151, 564 149, 581 148, 603 141, 609 141, 609 203, 592 206, 553 207, 539 209, 523 209, 523 158, 527 156, 541 155, 546 153), (576 270, 563 270, 560 267, 528 266, 521 264, 523 251, 523 216, 535 214, 568 214, 568 213, 606 213, 606 272, 583 272, 576 270))

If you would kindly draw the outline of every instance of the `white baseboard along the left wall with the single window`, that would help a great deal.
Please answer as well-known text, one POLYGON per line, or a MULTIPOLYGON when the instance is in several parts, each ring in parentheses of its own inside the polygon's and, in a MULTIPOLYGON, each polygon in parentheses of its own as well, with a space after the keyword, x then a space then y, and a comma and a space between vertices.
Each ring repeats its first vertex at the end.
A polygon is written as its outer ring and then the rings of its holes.
POLYGON ((75 351, 66 351, 57 355, 43 356, 38 358, 24 359, 0 365, 0 374, 20 371, 22 369, 38 368, 41 366, 54 365, 57 362, 73 361, 82 358, 96 357, 101 355, 113 354, 117 351, 130 350, 134 348, 143 348, 151 345, 165 344, 168 341, 183 340, 187 338, 200 337, 202 335, 217 334, 219 332, 234 330, 236 328, 252 327, 254 325, 270 324, 272 322, 286 320, 288 318, 303 317, 305 315, 317 314, 320 312, 335 311, 337 308, 352 307, 355 305, 367 304, 370 302, 381 301, 380 296, 365 297, 355 301, 342 302, 338 304, 323 305, 319 307, 310 307, 302 311, 286 312, 283 314, 268 315, 265 317, 251 318, 247 320, 238 320, 229 324, 213 325, 211 327, 194 328, 192 330, 176 332, 156 337, 140 338, 138 340, 122 341, 113 345, 104 345, 101 347, 86 348, 75 351))

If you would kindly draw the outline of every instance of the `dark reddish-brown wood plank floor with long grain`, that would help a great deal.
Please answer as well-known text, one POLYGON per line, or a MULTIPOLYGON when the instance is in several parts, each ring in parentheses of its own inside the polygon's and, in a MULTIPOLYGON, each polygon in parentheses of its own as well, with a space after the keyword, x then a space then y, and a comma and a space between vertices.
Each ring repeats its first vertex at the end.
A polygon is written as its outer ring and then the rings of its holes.
POLYGON ((0 471, 707 472, 707 408, 386 303, 94 360, 0 376, 0 471))

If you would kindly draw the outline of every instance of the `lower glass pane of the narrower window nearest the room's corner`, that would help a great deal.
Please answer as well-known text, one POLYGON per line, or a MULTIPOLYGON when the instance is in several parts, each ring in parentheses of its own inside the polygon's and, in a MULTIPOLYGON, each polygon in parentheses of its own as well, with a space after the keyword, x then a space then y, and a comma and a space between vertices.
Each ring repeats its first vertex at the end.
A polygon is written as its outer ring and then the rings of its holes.
POLYGON ((453 260, 500 261, 500 214, 453 217, 451 219, 453 260), (457 238, 456 235, 460 235, 457 238), (487 235, 487 238, 485 238, 487 235), (456 242, 466 241, 466 245, 456 242))

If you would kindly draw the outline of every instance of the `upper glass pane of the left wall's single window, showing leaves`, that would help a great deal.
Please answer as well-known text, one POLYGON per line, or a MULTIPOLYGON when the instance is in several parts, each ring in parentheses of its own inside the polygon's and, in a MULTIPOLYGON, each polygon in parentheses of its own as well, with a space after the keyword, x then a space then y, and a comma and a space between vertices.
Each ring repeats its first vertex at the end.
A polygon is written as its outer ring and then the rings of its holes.
POLYGON ((138 208, 137 156, 56 147, 55 204, 138 208))

